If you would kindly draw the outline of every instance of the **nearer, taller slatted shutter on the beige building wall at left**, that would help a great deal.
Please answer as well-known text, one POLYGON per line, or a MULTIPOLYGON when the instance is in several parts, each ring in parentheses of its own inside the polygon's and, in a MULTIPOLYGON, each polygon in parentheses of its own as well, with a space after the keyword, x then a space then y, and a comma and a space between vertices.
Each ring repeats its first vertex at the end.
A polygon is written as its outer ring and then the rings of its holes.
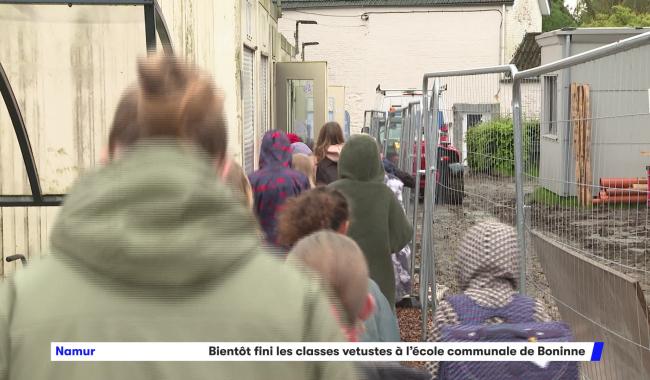
POLYGON ((243 161, 244 170, 247 174, 255 170, 255 91, 253 80, 255 52, 244 48, 244 59, 242 61, 242 107, 243 107, 243 161))

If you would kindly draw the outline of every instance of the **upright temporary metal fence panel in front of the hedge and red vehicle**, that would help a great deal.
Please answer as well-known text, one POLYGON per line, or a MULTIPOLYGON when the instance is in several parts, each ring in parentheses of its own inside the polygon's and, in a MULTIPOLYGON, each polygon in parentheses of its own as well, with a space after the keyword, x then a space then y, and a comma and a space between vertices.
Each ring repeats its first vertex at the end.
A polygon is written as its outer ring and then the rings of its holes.
POLYGON ((511 150, 514 143, 511 99, 502 96, 509 91, 506 79, 514 72, 513 66, 497 66, 423 78, 422 92, 427 94, 421 117, 426 162, 420 251, 423 339, 437 298, 445 291, 460 291, 456 254, 467 229, 484 220, 515 219, 514 154, 496 149, 511 150))

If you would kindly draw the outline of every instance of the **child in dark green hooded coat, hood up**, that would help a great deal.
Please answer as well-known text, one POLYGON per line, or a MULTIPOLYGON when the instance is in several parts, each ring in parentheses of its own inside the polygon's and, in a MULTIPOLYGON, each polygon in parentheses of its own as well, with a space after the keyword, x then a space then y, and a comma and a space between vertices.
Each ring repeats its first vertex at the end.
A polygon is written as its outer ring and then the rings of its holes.
POLYGON ((339 180, 331 183, 348 199, 351 210, 348 236, 368 261, 370 278, 395 307, 395 275, 391 253, 399 252, 413 233, 402 207, 384 184, 384 168, 375 140, 352 136, 343 147, 338 164, 339 180))

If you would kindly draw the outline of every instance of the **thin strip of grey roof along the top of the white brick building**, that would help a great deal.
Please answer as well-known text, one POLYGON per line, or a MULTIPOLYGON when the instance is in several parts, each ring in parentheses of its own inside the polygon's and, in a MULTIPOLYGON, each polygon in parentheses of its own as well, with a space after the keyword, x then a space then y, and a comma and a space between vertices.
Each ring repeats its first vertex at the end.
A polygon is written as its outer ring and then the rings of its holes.
POLYGON ((283 0, 282 9, 513 4, 514 0, 283 0))

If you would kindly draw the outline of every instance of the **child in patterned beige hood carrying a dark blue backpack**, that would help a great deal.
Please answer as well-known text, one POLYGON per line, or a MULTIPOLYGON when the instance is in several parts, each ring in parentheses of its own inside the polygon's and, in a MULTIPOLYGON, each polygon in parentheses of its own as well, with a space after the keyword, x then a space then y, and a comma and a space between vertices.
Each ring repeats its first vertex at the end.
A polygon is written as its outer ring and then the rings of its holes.
MULTIPOLYGON (((517 291, 520 264, 514 228, 495 221, 470 228, 458 249, 456 265, 462 293, 445 296, 438 304, 428 341, 525 342, 528 334, 540 343, 543 339, 571 340, 568 326, 550 322, 540 300, 517 291), (491 332, 491 325, 503 323, 507 328, 491 332), (544 333, 537 334, 539 329, 544 333)), ((576 362, 553 362, 545 368, 526 362, 429 362, 427 368, 434 379, 467 379, 479 373, 486 379, 513 378, 508 373, 522 379, 578 378, 576 362)))

